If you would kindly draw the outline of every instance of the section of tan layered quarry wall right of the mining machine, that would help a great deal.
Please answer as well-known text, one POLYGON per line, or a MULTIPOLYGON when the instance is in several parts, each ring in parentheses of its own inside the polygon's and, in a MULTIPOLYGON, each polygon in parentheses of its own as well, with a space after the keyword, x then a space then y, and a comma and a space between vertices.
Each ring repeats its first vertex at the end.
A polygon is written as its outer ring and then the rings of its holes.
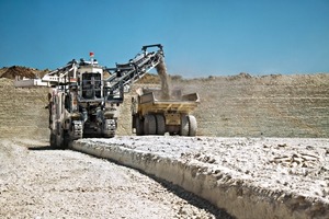
MULTIPOLYGON (((198 92, 193 113, 197 135, 218 137, 329 137, 329 73, 300 76, 209 77, 171 80, 171 88, 198 92)), ((138 87, 135 84, 133 91, 138 87)), ((131 92, 120 118, 120 134, 131 131, 131 92)))

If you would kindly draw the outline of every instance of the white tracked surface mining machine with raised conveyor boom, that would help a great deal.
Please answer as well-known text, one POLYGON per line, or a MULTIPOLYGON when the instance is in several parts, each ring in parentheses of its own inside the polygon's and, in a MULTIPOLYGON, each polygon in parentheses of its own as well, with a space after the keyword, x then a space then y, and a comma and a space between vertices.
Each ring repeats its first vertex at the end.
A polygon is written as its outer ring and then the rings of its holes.
POLYGON ((75 59, 42 78, 52 87, 48 94, 50 146, 67 147, 84 137, 114 137, 118 106, 124 92, 146 72, 163 61, 160 44, 148 45, 127 64, 102 67, 90 60, 75 59), (148 51, 149 47, 157 47, 148 51), (104 73, 110 73, 105 79, 104 73))

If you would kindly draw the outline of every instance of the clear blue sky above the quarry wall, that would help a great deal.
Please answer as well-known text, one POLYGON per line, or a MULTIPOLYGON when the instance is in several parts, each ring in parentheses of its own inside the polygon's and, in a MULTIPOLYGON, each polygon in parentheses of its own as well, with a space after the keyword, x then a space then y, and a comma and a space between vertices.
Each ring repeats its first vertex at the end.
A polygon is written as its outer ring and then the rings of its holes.
POLYGON ((114 67, 161 43, 186 78, 329 72, 329 0, 0 0, 0 67, 114 67))

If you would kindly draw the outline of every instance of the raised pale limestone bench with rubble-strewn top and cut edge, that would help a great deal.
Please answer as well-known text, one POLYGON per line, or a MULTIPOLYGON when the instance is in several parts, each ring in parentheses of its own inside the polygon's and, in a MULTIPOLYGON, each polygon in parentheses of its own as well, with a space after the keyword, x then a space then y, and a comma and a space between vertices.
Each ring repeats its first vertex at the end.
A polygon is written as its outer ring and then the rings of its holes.
POLYGON ((72 148, 155 174, 237 218, 329 217, 329 139, 117 137, 72 148))

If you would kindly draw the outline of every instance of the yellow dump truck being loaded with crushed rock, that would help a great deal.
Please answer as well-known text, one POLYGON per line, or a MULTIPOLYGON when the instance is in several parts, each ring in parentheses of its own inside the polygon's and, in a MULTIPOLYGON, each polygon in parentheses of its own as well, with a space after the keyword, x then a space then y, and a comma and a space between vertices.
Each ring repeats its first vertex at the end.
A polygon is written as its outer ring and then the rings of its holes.
POLYGON ((197 123, 191 113, 198 103, 197 93, 182 95, 173 90, 168 96, 160 89, 139 89, 132 99, 133 132, 195 136, 197 123))

